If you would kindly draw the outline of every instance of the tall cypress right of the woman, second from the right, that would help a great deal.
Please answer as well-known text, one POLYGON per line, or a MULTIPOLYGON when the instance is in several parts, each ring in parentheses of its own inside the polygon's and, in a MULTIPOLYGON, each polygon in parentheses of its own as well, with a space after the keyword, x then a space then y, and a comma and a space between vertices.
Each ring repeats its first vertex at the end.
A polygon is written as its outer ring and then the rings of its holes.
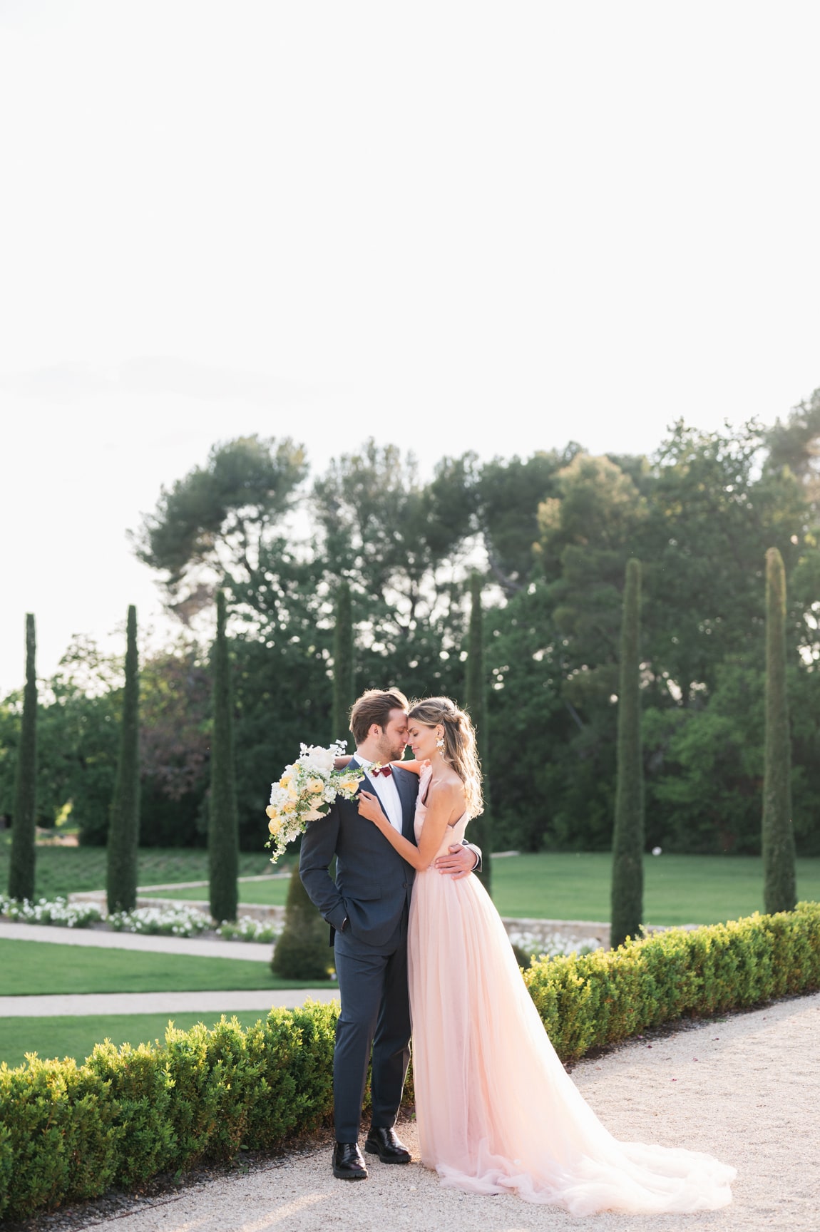
POLYGON ((637 936, 644 913, 644 774, 640 750, 640 562, 627 562, 618 684, 618 771, 612 837, 611 945, 637 936))

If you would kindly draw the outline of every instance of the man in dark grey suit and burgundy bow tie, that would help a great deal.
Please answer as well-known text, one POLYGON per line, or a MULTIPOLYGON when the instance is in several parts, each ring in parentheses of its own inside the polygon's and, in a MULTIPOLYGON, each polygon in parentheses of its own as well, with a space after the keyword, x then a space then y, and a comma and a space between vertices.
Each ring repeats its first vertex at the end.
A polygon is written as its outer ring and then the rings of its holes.
MULTIPOLYGON (((353 703, 350 726, 356 740, 350 765, 366 775, 360 790, 378 796, 390 824, 415 843, 419 776, 388 765, 404 756, 408 699, 398 689, 369 689, 353 703), (384 769, 372 770, 374 763, 384 769)), ((440 856, 436 866, 442 875, 465 877, 480 860, 479 849, 464 844, 440 856)), ((410 1060, 408 912, 415 870, 360 817, 356 800, 339 796, 304 832, 299 876, 330 924, 341 997, 334 1050, 334 1177, 366 1180, 358 1130, 371 1045, 373 1112, 364 1149, 382 1163, 410 1162, 393 1126, 410 1060), (335 882, 328 872, 334 855, 335 882)))

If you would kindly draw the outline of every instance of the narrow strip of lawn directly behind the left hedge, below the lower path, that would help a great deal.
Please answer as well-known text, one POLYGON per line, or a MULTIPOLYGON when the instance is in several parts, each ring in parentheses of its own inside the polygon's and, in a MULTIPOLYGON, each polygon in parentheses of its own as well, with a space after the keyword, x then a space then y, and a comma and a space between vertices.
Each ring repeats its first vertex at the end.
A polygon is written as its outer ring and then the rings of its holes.
MULTIPOLYGON (((265 1018, 265 1011, 227 1010, 225 1018, 235 1016, 243 1026, 252 1026, 265 1018)), ((174 1014, 170 1020, 175 1026, 187 1031, 195 1023, 213 1026, 219 1021, 219 1014, 174 1014)), ((113 1044, 153 1044, 163 1042, 167 1014, 106 1014, 100 1018, 6 1018, 0 1019, 0 1062, 9 1066, 21 1066, 26 1052, 37 1052, 41 1057, 74 1057, 84 1061, 95 1044, 110 1039, 113 1044)))

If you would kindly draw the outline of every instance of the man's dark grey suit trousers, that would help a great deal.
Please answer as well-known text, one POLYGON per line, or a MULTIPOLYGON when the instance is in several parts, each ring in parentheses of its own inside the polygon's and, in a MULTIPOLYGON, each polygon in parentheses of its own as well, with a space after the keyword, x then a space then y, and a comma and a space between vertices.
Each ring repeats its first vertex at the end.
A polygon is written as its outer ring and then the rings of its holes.
POLYGON ((401 1103, 410 1061, 406 908, 388 946, 377 951, 337 933, 334 952, 341 998, 334 1048, 334 1126, 336 1142, 357 1142, 371 1046, 373 1127, 392 1129, 401 1103))

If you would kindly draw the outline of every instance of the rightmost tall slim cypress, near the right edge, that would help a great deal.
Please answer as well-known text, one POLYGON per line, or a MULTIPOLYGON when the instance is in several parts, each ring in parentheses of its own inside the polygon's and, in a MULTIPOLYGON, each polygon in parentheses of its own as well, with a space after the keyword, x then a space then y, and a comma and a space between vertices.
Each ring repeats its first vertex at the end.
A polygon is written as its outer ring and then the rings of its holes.
POLYGON ((792 749, 786 694, 786 573, 776 547, 766 553, 766 760, 763 770, 763 903, 790 912, 797 902, 792 827, 792 749))

